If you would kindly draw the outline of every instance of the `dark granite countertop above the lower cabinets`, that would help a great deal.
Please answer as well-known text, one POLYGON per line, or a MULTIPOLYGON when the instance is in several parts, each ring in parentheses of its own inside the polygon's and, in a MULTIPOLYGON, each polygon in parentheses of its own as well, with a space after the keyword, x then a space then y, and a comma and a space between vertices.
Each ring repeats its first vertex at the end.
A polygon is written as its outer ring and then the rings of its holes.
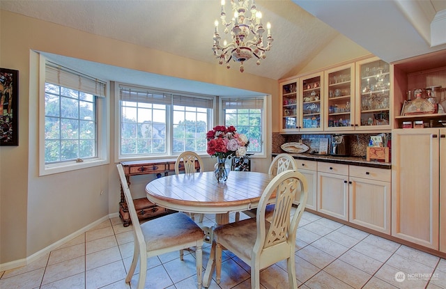
MULTIPOLYGON (((279 155, 279 153, 272 153, 272 157, 279 155)), ((351 164, 353 166, 367 166, 378 169, 392 169, 392 163, 369 161, 365 157, 336 157, 333 155, 314 155, 310 153, 290 153, 295 159, 307 159, 317 162, 331 162, 334 164, 351 164)))

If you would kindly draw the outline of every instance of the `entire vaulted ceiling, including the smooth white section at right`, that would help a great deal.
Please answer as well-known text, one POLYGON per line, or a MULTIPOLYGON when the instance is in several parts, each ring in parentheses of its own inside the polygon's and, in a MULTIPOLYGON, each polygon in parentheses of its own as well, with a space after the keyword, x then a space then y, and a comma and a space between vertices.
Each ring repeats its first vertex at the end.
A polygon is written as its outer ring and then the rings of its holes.
MULTIPOLYGON (((339 33, 387 62, 446 49, 446 44, 431 47, 426 36, 435 15, 446 13, 444 0, 256 0, 256 4, 263 22, 272 24, 274 41, 261 65, 245 63, 245 73, 288 77, 339 33)), ((220 0, 0 1, 1 9, 13 13, 209 63, 217 63, 211 48, 220 7, 220 0)), ((231 69, 240 73, 238 63, 231 69)))

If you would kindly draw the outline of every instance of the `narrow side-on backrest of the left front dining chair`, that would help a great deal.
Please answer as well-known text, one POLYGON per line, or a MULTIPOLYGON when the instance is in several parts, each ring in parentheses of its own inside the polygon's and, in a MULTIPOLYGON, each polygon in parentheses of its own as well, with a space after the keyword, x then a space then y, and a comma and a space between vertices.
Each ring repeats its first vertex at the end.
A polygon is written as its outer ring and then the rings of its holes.
POLYGON ((144 241, 144 235, 139 224, 137 210, 134 208, 132 194, 130 194, 130 188, 128 187, 127 179, 122 164, 116 164, 119 173, 119 179, 121 180, 121 188, 125 196, 125 202, 127 203, 128 212, 130 214, 130 220, 132 220, 134 242, 139 244, 139 249, 146 252, 146 241, 144 241))

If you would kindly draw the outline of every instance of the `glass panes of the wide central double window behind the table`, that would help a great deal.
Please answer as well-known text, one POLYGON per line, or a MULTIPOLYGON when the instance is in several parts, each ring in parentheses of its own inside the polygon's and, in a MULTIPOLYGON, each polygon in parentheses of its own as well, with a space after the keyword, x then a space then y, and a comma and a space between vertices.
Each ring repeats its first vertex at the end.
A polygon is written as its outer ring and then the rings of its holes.
POLYGON ((176 95, 122 84, 119 91, 121 156, 170 156, 185 150, 206 153, 213 97, 176 95), (167 151, 167 147, 171 151, 167 151))

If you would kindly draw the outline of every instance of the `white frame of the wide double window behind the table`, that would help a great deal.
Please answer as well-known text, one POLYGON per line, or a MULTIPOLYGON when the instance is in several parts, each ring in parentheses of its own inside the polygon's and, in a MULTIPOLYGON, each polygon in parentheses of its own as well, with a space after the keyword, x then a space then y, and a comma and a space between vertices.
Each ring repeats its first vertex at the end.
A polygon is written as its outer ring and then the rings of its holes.
MULTIPOLYGON (((165 94, 171 94, 172 97, 174 97, 174 95, 184 95, 184 96, 190 96, 190 97, 203 97, 203 98, 207 98, 213 99, 213 107, 210 108, 210 113, 208 114, 208 130, 211 130, 212 127, 214 126, 214 116, 215 116, 215 111, 216 111, 216 104, 217 104, 217 97, 213 96, 213 95, 199 95, 199 94, 192 94, 192 93, 185 93, 185 92, 179 92, 179 91, 164 91, 160 88, 151 88, 151 87, 147 87, 147 86, 137 86, 137 85, 132 85, 132 84, 125 84, 125 83, 121 83, 121 82, 114 82, 114 95, 115 95, 115 150, 114 150, 114 161, 115 162, 123 162, 123 161, 129 161, 129 160, 139 160, 139 159, 160 159, 160 157, 164 157, 164 158, 173 158, 173 157, 178 157, 178 155, 180 155, 180 153, 172 153, 172 145, 174 143, 174 135, 172 132, 172 127, 173 127, 173 116, 172 114, 172 109, 169 108, 166 111, 166 154, 155 154, 155 153, 151 153, 151 154, 138 154, 138 155, 121 155, 121 104, 120 104, 120 95, 119 95, 119 88, 120 86, 125 86, 125 87, 134 87, 134 88, 140 88, 141 90, 147 90, 147 91, 153 91, 153 93, 165 93, 165 94)), ((208 156, 206 154, 206 152, 203 153, 199 153, 199 155, 201 155, 202 157, 206 157, 208 156)))

